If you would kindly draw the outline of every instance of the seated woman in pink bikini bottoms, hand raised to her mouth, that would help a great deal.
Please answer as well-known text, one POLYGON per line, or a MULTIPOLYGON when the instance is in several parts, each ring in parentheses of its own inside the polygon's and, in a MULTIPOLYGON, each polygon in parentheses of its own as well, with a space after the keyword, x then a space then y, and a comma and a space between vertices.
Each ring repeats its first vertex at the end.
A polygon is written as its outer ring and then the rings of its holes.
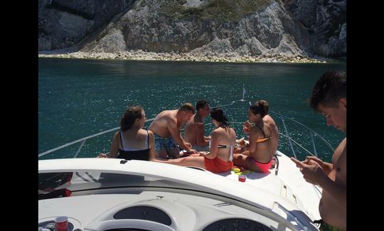
MULTIPOLYGON (((248 109, 248 119, 254 126, 245 124, 245 131, 250 133, 250 144, 247 151, 233 155, 235 166, 250 169, 252 171, 267 173, 272 165, 272 159, 279 140, 279 131, 276 124, 268 122, 264 117, 268 114, 268 103, 259 100, 248 109)), ((272 119, 272 118, 271 118, 272 119)))

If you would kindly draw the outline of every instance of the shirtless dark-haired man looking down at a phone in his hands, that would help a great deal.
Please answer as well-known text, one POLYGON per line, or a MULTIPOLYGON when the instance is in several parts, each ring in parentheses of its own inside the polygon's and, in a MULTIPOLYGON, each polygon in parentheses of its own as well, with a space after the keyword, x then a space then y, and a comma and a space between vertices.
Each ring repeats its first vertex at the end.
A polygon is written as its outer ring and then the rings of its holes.
MULTIPOLYGON (((326 124, 346 133, 346 73, 326 72, 317 80, 311 107, 326 118, 326 124)), ((291 158, 304 179, 323 188, 319 203, 320 230, 346 230, 346 138, 338 144, 332 163, 314 156, 304 161, 291 158)))

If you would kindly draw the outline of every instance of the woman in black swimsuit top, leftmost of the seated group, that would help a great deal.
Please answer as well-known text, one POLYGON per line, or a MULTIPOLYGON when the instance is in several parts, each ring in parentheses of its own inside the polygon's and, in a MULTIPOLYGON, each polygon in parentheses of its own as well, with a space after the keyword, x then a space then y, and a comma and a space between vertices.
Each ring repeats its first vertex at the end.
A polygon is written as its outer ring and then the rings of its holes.
POLYGON ((135 105, 129 107, 120 119, 120 131, 112 139, 109 154, 99 154, 99 158, 152 161, 154 159, 154 134, 143 129, 144 109, 135 105))

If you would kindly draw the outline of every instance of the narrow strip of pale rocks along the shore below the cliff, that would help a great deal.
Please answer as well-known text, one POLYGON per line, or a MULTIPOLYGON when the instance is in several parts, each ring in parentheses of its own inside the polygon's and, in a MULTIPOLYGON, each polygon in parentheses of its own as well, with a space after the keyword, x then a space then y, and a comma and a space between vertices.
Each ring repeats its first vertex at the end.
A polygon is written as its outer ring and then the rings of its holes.
POLYGON ((82 51, 41 51, 38 57, 119 59, 119 60, 161 60, 219 63, 327 63, 324 58, 307 58, 302 55, 287 57, 284 55, 237 55, 234 53, 154 53, 143 50, 129 50, 117 53, 90 53, 82 51))

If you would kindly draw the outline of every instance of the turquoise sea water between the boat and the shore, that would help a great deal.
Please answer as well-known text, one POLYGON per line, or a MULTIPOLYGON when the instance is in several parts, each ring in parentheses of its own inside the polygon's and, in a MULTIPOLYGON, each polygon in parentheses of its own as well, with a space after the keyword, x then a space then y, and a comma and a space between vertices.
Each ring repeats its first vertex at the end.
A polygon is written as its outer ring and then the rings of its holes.
MULTIPOLYGON (((48 151, 85 136, 119 126, 119 118, 127 106, 141 104, 148 118, 164 109, 176 109, 183 102, 204 98, 211 107, 230 104, 242 97, 254 102, 264 99, 270 110, 296 119, 314 129, 331 146, 344 134, 327 127, 324 118, 314 112, 306 100, 318 77, 326 70, 346 70, 345 63, 277 64, 277 63, 189 63, 127 60, 38 59, 38 151, 48 151)), ((225 108, 230 121, 243 122, 247 104, 238 102, 225 108)), ((277 120, 280 131, 284 125, 277 120)), ((206 118, 206 122, 210 122, 206 118)), ((149 126, 149 123, 146 123, 149 126)), ((286 122, 289 135, 306 149, 313 151, 309 132, 286 122)), ((212 127, 207 127, 209 134, 212 127)), ((243 136, 241 127, 238 136, 243 136)), ((90 139, 78 157, 96 156, 109 151, 114 132, 90 139)), ((319 138, 314 138, 319 145, 319 138)), ((41 159, 68 158, 79 144, 41 159)), ((295 150, 297 145, 294 144, 295 150)), ((279 150, 289 156, 292 151, 282 137, 279 150)), ((332 151, 316 146, 319 156, 330 161, 332 151)), ((299 158, 305 151, 297 149, 299 158)))

